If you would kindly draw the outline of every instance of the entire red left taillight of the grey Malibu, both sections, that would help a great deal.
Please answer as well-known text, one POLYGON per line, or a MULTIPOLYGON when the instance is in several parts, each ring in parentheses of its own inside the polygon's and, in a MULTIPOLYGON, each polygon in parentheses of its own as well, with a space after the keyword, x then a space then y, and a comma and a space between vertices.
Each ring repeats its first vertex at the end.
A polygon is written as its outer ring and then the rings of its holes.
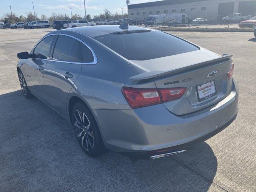
POLYGON ((123 87, 122 92, 131 108, 140 108, 177 100, 187 88, 143 89, 123 87))

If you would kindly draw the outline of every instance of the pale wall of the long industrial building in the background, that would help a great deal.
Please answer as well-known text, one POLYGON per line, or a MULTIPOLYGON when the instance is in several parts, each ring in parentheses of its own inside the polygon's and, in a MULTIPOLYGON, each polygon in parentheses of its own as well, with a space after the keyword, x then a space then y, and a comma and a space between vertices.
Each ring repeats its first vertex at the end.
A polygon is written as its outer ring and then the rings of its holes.
MULTIPOLYGON (((220 3, 229 3, 234 2, 234 13, 238 12, 239 2, 249 1, 249 0, 208 0, 202 2, 192 2, 185 4, 173 4, 166 6, 154 6, 154 7, 144 7, 144 8, 133 8, 128 9, 129 18, 145 18, 149 15, 158 15, 158 14, 171 14, 171 13, 183 13, 187 14, 188 17, 193 18, 206 18, 208 20, 217 20, 218 17, 218 7, 220 3), (202 7, 206 7, 206 10, 201 10, 202 7), (196 8, 196 10, 191 11, 191 8, 196 8), (185 9, 185 12, 181 12, 181 9, 185 9), (168 13, 164 13, 164 10, 167 10, 168 13), (172 12, 172 10, 176 10, 176 12, 172 12), (152 11, 152 14, 150 14, 152 11), (160 11, 160 13, 156 13, 160 11), (137 15, 139 12, 139 15, 137 15), (146 14, 143 14, 146 12, 146 14), (133 15, 131 15, 133 13, 133 15)), ((256 1, 256 0, 255 0, 256 1)))

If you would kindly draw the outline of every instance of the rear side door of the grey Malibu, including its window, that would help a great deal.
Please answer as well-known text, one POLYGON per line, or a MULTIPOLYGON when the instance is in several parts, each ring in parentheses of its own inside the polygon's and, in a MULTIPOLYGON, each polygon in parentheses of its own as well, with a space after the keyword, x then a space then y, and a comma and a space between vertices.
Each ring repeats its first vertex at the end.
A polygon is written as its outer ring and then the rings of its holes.
POLYGON ((82 42, 59 35, 44 73, 48 103, 66 116, 68 94, 82 68, 82 42))

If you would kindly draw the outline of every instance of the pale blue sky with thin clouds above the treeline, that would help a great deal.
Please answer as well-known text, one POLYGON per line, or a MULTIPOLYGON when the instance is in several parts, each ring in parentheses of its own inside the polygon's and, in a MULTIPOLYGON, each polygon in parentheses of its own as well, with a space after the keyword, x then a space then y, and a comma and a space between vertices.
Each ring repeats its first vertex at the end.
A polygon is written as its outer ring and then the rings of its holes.
MULTIPOLYGON (((72 14, 79 14, 84 16, 84 0, 0 0, 0 17, 4 17, 6 13, 10 13, 10 7, 12 13, 16 15, 26 16, 26 12, 33 12, 32 1, 34 2, 35 12, 40 17, 42 14, 50 16, 54 13, 68 14, 70 13, 70 7, 72 7, 72 14)), ((157 0, 130 0, 130 4, 152 2, 157 0)), ((86 14, 91 16, 103 13, 107 8, 112 13, 122 14, 122 7, 124 13, 127 13, 127 5, 125 0, 86 0, 86 14)))

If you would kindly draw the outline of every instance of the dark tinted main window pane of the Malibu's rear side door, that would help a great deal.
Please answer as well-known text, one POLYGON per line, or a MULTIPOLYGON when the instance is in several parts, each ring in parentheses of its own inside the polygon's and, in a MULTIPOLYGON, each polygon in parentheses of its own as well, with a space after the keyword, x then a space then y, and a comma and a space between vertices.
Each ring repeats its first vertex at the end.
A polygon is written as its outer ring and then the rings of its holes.
POLYGON ((56 42, 52 59, 82 62, 82 43, 72 37, 60 35, 56 42))

